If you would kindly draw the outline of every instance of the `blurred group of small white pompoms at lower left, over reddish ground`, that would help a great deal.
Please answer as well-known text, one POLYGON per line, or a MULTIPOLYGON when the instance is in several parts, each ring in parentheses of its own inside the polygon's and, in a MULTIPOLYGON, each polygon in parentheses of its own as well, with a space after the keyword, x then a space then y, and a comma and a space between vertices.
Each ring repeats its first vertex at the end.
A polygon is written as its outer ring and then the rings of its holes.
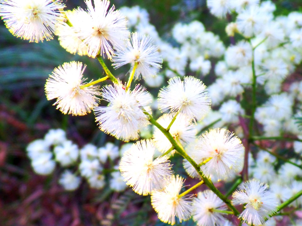
MULTIPOLYGON (((120 157, 119 148, 106 143, 102 148, 86 144, 79 148, 77 144, 66 138, 62 129, 50 129, 44 139, 32 141, 26 147, 33 170, 40 175, 53 173, 56 162, 65 168, 60 175, 59 183, 65 190, 76 190, 81 183, 81 176, 87 180, 91 188, 101 189, 105 186, 103 166, 108 159, 115 161, 120 157), (80 175, 79 175, 80 174, 80 175)), ((115 191, 123 191, 126 183, 120 172, 115 169, 110 174, 109 187, 115 191)))

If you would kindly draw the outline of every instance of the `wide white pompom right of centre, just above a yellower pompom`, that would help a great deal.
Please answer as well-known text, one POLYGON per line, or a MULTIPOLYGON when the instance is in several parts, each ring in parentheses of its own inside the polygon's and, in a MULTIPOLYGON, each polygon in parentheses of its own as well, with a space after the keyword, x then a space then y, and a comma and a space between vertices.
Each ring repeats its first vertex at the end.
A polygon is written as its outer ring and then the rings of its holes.
POLYGON ((179 111, 186 118, 200 121, 209 112, 211 100, 206 92, 206 86, 192 76, 169 80, 169 85, 159 91, 158 104, 161 111, 170 109, 179 111))

